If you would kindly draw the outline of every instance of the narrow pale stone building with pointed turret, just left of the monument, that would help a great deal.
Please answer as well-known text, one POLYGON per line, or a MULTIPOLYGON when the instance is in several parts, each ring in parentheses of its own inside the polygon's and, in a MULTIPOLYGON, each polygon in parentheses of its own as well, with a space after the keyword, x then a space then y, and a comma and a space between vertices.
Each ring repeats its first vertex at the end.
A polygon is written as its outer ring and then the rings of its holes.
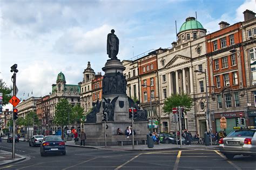
POLYGON ((85 113, 92 108, 92 80, 94 77, 95 72, 88 61, 87 68, 83 72, 83 81, 78 83, 81 89, 80 105, 84 108, 85 113))

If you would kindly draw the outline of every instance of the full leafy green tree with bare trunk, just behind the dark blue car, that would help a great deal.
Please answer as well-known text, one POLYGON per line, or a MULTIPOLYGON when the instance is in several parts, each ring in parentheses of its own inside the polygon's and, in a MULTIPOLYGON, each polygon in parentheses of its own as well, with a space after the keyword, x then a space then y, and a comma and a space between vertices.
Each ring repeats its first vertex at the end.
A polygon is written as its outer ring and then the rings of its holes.
POLYGON ((72 105, 69 103, 66 98, 62 98, 57 104, 56 104, 56 110, 55 110, 55 116, 53 117, 53 122, 56 125, 59 125, 62 127, 62 138, 63 132, 64 132, 64 126, 69 124, 69 118, 73 118, 73 112, 72 112, 72 105))

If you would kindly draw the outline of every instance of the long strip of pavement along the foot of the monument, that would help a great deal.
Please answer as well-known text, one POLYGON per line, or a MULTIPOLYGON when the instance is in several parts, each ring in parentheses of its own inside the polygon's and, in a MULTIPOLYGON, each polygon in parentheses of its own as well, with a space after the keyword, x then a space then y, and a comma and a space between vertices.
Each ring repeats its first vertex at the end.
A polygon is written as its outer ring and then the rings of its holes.
MULTIPOLYGON (((86 148, 96 148, 98 150, 114 150, 114 151, 161 151, 161 150, 174 150, 174 149, 180 149, 180 145, 175 144, 159 144, 154 145, 153 148, 147 147, 147 145, 134 145, 134 150, 132 150, 132 145, 124 145, 124 146, 80 146, 76 145, 74 141, 66 141, 66 146, 73 146, 73 147, 86 147, 86 148)), ((182 149, 218 149, 219 145, 182 145, 182 149)))

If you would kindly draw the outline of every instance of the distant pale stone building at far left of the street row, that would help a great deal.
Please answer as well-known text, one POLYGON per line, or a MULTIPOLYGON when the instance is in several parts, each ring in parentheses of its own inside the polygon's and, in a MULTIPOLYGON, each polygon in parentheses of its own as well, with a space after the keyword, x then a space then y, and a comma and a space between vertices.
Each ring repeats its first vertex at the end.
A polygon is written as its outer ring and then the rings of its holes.
POLYGON ((21 103, 19 103, 16 106, 18 109, 18 117, 25 118, 29 112, 36 113, 36 103, 39 100, 41 100, 41 97, 30 97, 27 100, 23 100, 21 103))

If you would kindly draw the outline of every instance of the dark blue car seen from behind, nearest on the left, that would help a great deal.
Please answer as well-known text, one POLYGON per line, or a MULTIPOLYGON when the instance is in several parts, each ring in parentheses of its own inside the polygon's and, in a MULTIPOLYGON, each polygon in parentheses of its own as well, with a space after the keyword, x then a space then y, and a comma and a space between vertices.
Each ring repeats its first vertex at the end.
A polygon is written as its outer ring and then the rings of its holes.
POLYGON ((65 142, 60 136, 45 136, 40 146, 40 153, 42 157, 48 153, 62 153, 65 155, 65 142))

